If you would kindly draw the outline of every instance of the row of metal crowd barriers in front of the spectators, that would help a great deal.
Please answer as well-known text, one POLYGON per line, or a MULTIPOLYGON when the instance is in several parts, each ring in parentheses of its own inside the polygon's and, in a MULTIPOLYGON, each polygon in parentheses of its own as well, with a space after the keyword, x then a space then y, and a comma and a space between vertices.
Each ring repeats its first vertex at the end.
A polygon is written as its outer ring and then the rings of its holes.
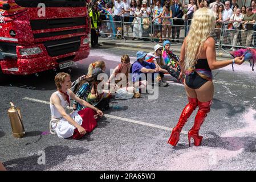
MULTIPOLYGON (((107 20, 102 20, 100 34, 108 38, 124 38, 138 39, 144 41, 158 42, 160 38, 160 32, 162 34, 162 41, 170 40, 172 42, 182 43, 188 35, 191 20, 174 19, 170 18, 171 23, 157 24, 149 19, 149 24, 145 24, 143 19, 145 17, 136 17, 132 21, 134 16, 128 16, 129 22, 124 22, 123 19, 115 21, 113 15, 107 15, 107 20)), ((230 22, 222 23, 221 28, 214 28, 212 37, 216 42, 218 49, 224 49, 225 47, 233 48, 256 48, 256 31, 254 30, 230 30, 227 28, 227 24, 230 22)), ((252 24, 256 27, 256 23, 252 24)))

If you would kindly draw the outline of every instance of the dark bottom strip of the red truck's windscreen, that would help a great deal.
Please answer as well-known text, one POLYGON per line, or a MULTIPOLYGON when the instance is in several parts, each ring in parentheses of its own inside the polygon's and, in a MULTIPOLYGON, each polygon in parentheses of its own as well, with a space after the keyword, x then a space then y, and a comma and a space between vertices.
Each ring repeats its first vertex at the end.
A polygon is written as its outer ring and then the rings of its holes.
POLYGON ((46 7, 83 7, 86 0, 15 0, 21 7, 38 7, 39 3, 44 3, 46 7))

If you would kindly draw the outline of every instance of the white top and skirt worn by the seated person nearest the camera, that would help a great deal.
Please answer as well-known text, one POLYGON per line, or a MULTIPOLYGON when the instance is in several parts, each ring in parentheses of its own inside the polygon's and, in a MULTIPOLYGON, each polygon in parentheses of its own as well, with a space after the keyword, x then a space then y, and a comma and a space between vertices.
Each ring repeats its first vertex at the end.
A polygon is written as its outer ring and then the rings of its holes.
MULTIPOLYGON (((55 94, 59 96, 62 107, 66 110, 68 102, 64 100, 63 96, 56 91, 55 94)), ((66 119, 62 117, 59 111, 54 105, 50 103, 51 109, 51 121, 50 121, 50 131, 51 133, 56 133, 59 138, 68 138, 74 134, 75 126, 71 125, 66 119)), ((82 125, 83 119, 78 114, 78 111, 73 111, 69 114, 72 119, 79 125, 82 125)))

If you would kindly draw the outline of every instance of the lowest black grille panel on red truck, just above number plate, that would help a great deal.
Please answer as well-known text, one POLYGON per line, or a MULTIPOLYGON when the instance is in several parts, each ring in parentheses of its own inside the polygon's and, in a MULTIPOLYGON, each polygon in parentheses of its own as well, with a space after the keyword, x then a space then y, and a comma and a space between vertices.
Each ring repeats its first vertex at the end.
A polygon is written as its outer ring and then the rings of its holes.
POLYGON ((80 48, 80 42, 80 36, 75 36, 68 39, 50 40, 43 44, 47 49, 48 55, 59 56, 78 51, 80 48))

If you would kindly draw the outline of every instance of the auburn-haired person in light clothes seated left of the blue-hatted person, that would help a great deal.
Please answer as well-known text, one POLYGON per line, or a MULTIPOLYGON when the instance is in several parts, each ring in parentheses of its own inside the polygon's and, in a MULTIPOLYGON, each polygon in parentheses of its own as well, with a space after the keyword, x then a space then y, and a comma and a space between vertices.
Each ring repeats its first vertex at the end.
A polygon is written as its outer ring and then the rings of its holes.
POLYGON ((115 90, 119 88, 124 88, 125 90, 131 93, 136 93, 141 89, 146 88, 147 87, 146 80, 143 80, 140 82, 137 81, 134 84, 128 80, 130 69, 131 69, 130 58, 128 55, 123 55, 121 57, 121 64, 117 65, 117 67, 114 69, 113 73, 108 79, 108 83, 110 84, 112 82, 115 82, 115 90))

